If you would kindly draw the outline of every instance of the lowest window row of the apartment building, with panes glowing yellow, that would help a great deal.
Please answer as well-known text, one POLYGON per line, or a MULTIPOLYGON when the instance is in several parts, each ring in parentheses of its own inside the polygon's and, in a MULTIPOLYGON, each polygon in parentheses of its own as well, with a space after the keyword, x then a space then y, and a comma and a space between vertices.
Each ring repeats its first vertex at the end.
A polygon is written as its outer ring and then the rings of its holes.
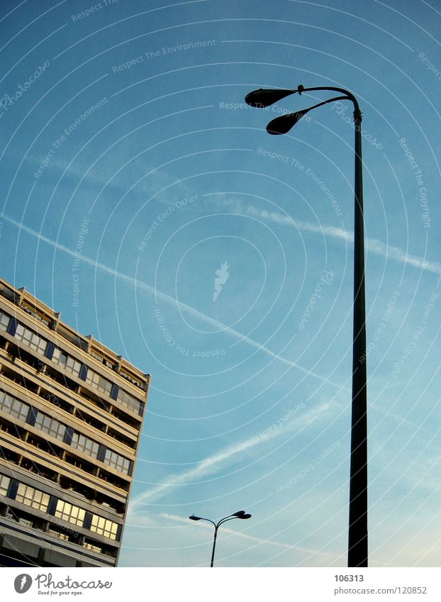
POLYGON ((108 539, 118 539, 119 525, 118 523, 113 522, 113 520, 109 520, 98 514, 86 512, 84 508, 79 508, 79 506, 74 506, 74 504, 67 501, 53 498, 49 494, 45 494, 44 491, 35 489, 35 487, 30 485, 17 483, 17 481, 13 482, 16 484, 15 494, 13 493, 13 488, 11 488, 11 479, 9 476, 3 474, 0 475, 1 486, 5 488, 7 483, 5 496, 7 496, 9 492, 9 497, 11 499, 15 499, 30 508, 52 514, 55 518, 60 518, 61 520, 65 520, 67 523, 72 523, 78 527, 84 527, 98 535, 104 535, 104 537, 108 537, 108 539), (51 499, 53 500, 52 503, 51 499))

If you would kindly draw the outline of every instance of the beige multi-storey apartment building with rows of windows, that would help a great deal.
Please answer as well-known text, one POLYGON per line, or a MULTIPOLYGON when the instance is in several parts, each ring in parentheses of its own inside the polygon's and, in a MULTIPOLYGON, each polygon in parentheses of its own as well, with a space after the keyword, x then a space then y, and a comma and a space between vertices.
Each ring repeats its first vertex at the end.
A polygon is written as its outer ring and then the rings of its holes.
POLYGON ((116 566, 149 386, 0 278, 0 566, 116 566))

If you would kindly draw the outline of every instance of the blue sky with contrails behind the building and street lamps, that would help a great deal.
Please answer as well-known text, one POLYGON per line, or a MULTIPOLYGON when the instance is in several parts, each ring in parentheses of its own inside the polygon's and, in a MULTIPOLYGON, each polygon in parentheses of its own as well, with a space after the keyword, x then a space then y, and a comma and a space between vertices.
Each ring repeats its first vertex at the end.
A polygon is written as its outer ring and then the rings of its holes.
POLYGON ((363 112, 369 562, 439 566, 439 9, 1 3, 1 276, 152 374, 122 566, 242 508, 218 566, 345 566, 352 108, 243 101, 298 84, 363 112))

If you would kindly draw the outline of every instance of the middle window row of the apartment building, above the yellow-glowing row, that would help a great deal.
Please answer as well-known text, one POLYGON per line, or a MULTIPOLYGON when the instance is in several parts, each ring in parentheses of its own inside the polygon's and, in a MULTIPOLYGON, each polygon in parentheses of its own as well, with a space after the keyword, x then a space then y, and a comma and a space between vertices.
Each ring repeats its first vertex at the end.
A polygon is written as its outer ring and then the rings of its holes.
MULTIPOLYGON (((0 409, 6 413, 11 414, 14 418, 23 420, 32 425, 32 419, 30 419, 30 406, 27 403, 0 391, 0 409)), ((100 445, 98 442, 78 433, 72 428, 69 429, 66 425, 61 423, 55 418, 51 418, 48 414, 40 411, 33 410, 33 417, 35 415, 35 423, 33 426, 38 428, 46 435, 55 437, 55 439, 68 443, 79 452, 84 452, 94 459, 99 459, 100 462, 104 462, 110 467, 115 468, 123 474, 130 473, 131 462, 128 458, 121 456, 120 454, 108 450, 104 445, 100 445)))

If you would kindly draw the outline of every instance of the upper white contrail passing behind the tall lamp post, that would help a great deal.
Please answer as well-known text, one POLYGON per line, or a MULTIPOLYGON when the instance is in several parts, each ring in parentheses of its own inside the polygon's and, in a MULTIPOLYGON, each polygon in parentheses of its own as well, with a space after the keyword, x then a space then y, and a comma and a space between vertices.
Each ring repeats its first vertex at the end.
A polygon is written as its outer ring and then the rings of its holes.
MULTIPOLYGON (((294 220, 290 216, 286 216, 283 213, 278 213, 277 211, 266 211, 264 209, 257 209, 254 206, 247 205, 239 200, 233 201, 225 199, 225 201, 223 202, 227 206, 233 206, 234 211, 238 213, 243 213, 245 215, 262 219, 264 221, 277 223, 279 225, 286 225, 291 228, 298 228, 298 230, 302 230, 303 232, 311 232, 313 234, 319 234, 321 236, 328 236, 329 238, 342 240, 347 244, 352 245, 354 243, 354 233, 350 232, 349 230, 344 230, 343 228, 335 228, 334 226, 330 225, 318 225, 314 223, 294 220)), ((429 262, 426 261, 423 257, 410 255, 409 253, 404 252, 400 248, 393 247, 392 245, 386 245, 381 240, 377 240, 376 238, 366 239, 366 250, 368 253, 372 253, 372 255, 381 255, 381 257, 386 257, 387 259, 391 259, 402 264, 418 267, 419 269, 424 269, 426 272, 432 272, 434 274, 437 274, 438 276, 441 275, 440 263, 429 262)))

